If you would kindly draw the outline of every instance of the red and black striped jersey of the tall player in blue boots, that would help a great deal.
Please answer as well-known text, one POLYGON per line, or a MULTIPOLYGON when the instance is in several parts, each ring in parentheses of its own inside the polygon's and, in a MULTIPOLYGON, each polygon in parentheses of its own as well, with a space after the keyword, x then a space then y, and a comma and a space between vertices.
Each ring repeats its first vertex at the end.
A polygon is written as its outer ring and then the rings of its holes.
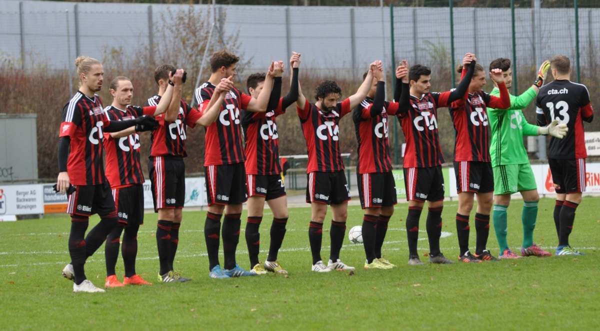
MULTIPOLYGON (((200 112, 205 112, 216 86, 210 82, 196 89, 200 112)), ((246 160, 242 147, 240 111, 247 109, 252 97, 233 88, 225 96, 217 121, 206 128, 204 166, 242 163, 246 160)))

